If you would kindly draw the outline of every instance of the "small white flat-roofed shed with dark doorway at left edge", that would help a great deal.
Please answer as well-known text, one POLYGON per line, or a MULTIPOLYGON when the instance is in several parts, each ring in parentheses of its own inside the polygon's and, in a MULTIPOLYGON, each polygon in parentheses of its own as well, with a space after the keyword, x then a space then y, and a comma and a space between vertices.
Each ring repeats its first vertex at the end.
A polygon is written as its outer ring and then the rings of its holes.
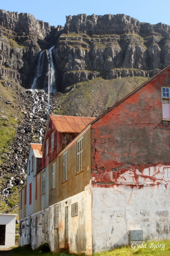
POLYGON ((0 246, 15 245, 16 215, 0 213, 0 246))

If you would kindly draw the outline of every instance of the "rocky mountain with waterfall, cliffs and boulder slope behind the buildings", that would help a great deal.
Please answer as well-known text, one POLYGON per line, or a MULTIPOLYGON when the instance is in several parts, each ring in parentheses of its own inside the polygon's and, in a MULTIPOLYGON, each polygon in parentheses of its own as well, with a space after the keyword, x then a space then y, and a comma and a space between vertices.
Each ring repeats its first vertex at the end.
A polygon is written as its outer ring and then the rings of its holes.
POLYGON ((124 14, 67 16, 50 27, 0 10, 1 212, 18 213, 29 143, 44 135, 48 62, 50 113, 99 116, 170 64, 170 27, 124 14))

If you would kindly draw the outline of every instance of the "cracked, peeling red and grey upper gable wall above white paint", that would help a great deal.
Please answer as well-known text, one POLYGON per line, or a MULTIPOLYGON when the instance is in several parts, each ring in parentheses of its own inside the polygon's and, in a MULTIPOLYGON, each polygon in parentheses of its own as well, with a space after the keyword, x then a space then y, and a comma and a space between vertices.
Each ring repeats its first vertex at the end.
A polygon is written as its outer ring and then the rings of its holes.
POLYGON ((170 164, 170 122, 162 120, 161 86, 170 86, 170 68, 91 125, 94 187, 120 185, 118 177, 129 169, 133 186, 139 176, 154 183, 153 175, 149 171, 144 175, 143 170, 170 164))

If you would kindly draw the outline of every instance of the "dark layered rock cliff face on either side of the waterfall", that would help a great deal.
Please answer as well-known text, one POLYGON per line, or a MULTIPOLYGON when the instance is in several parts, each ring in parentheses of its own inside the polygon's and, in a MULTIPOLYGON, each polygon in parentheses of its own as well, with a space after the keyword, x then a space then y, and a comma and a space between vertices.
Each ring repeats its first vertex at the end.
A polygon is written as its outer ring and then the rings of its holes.
MULTIPOLYGON (((56 28, 27 13, 0 10, 0 79, 31 88, 39 54, 51 46, 57 90, 98 76, 149 77, 170 64, 170 27, 124 14, 80 14, 56 28)), ((49 52, 43 56, 37 88, 46 86, 49 52)))

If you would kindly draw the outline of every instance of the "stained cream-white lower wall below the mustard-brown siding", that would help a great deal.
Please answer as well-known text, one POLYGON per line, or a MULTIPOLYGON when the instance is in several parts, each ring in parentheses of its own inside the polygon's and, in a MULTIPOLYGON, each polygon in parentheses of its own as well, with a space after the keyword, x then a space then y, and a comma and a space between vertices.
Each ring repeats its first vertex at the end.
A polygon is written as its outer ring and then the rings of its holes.
POLYGON ((59 228, 54 229, 54 205, 49 206, 49 244, 52 251, 69 248, 70 253, 92 254, 91 184, 77 195, 59 204, 59 228), (67 202, 67 203, 66 203, 67 202), (78 215, 72 217, 72 204, 78 203, 78 215), (68 206, 68 244, 65 243, 65 208, 68 206))

